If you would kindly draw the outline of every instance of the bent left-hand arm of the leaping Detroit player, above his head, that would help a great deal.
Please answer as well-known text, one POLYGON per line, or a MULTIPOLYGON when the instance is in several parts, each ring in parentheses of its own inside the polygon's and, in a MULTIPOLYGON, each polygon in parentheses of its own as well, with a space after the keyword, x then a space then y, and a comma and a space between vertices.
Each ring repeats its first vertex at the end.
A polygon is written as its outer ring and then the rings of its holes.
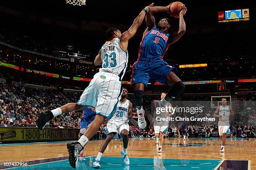
POLYGON ((168 13, 168 9, 169 9, 169 5, 166 7, 160 7, 160 6, 156 6, 156 7, 149 7, 147 10, 147 15, 146 15, 146 25, 147 28, 143 33, 143 36, 148 33, 148 31, 150 31, 152 28, 156 27, 156 21, 155 21, 155 17, 154 17, 154 13, 157 12, 161 12, 161 11, 165 11, 166 13, 168 13))

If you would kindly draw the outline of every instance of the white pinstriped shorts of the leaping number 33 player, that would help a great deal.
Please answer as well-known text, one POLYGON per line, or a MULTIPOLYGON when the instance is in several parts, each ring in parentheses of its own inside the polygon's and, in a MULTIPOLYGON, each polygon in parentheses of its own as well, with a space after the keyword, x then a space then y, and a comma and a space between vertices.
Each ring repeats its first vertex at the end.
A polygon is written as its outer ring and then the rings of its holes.
POLYGON ((110 119, 116 111, 122 90, 122 83, 118 75, 98 72, 77 103, 94 107, 96 114, 110 119))

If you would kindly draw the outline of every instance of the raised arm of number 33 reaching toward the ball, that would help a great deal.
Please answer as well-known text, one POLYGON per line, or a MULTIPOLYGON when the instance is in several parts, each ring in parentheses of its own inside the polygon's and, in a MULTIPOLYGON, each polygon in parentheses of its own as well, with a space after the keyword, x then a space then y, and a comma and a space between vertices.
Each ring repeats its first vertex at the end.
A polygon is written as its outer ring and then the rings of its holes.
MULTIPOLYGON (((152 5, 153 3, 151 5, 146 6, 145 9, 152 5)), ((133 25, 129 28, 129 30, 123 33, 122 37, 120 38, 120 45, 123 48, 123 50, 127 51, 128 40, 130 40, 136 34, 137 29, 139 28, 139 26, 141 26, 141 23, 145 18, 145 15, 146 10, 143 9, 141 13, 135 18, 135 20, 133 21, 133 25)))

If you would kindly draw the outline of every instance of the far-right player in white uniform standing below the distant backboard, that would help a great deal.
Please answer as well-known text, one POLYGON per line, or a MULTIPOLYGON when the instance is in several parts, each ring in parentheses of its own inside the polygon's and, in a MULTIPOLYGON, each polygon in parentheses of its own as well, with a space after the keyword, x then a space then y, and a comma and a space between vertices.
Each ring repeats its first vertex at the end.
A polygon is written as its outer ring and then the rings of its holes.
POLYGON ((229 116, 234 115, 233 109, 230 106, 227 106, 227 100, 223 98, 221 100, 222 105, 217 107, 214 117, 219 117, 219 135, 220 135, 220 140, 221 140, 221 149, 220 152, 224 153, 224 147, 226 144, 226 136, 230 134, 229 130, 229 116), (219 114, 218 114, 219 113, 219 114), (218 115, 217 115, 218 114, 218 115))

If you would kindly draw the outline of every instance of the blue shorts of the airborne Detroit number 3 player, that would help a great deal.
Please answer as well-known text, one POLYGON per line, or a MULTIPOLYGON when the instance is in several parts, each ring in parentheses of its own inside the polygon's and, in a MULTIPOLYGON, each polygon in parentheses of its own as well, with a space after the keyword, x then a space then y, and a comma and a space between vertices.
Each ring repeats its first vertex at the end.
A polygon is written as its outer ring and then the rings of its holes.
POLYGON ((146 87, 151 78, 156 82, 166 85, 166 77, 170 72, 177 72, 176 67, 168 65, 164 60, 148 60, 141 58, 133 64, 131 84, 142 82, 146 87))

